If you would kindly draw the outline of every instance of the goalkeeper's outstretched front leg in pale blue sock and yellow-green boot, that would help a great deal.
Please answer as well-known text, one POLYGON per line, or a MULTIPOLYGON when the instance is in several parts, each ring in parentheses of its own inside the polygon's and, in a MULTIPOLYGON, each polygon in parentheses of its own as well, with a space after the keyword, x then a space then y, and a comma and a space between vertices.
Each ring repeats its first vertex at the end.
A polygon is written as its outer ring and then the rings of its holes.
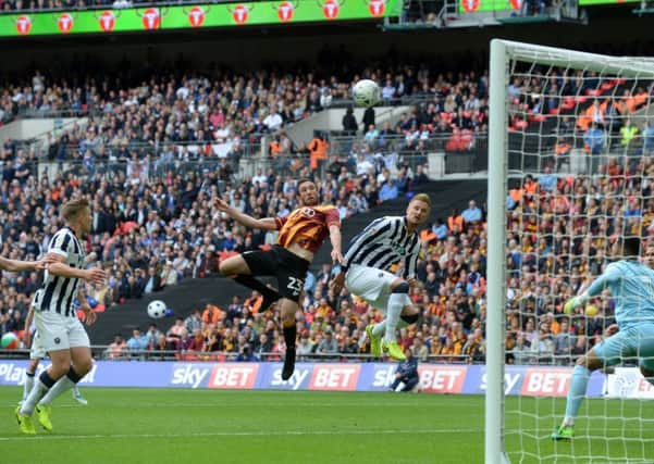
POLYGON ((585 355, 577 360, 570 378, 568 397, 566 400, 566 415, 564 421, 552 434, 552 439, 562 440, 573 437, 575 419, 579 415, 579 409, 585 397, 588 383, 593 371, 614 366, 620 362, 625 355, 633 352, 633 346, 630 342, 631 333, 628 330, 619 331, 613 337, 603 340, 593 347, 585 355))

